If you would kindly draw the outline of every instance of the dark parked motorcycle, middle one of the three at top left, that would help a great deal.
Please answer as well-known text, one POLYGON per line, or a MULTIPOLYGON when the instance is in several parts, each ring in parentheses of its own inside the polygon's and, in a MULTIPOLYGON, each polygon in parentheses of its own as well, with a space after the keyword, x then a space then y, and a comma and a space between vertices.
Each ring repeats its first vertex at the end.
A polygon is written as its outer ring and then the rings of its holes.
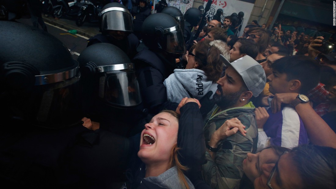
POLYGON ((83 3, 77 0, 57 0, 57 5, 53 7, 53 15, 56 18, 62 17, 63 14, 75 17, 82 5, 83 3))

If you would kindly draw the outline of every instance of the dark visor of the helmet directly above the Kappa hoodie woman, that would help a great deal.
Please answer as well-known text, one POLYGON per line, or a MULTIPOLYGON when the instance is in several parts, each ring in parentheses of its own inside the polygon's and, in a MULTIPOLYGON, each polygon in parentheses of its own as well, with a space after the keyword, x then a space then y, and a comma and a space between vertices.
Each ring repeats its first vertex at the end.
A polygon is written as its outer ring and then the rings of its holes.
POLYGON ((167 52, 174 54, 183 54, 186 52, 183 33, 181 29, 164 34, 161 38, 161 48, 167 52))

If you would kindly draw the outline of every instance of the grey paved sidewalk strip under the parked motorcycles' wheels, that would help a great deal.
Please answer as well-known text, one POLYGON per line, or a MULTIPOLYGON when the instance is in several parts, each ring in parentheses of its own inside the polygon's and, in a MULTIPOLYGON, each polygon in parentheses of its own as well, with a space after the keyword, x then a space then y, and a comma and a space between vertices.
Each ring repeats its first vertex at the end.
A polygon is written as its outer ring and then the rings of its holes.
POLYGON ((78 27, 76 25, 76 18, 71 18, 71 17, 63 18, 63 17, 59 19, 55 19, 51 15, 49 15, 49 17, 45 17, 44 15, 42 15, 42 18, 45 23, 49 23, 51 25, 57 26, 59 28, 63 28, 65 30, 77 30, 77 34, 82 35, 87 38, 91 38, 97 34, 100 34, 98 23, 84 22, 83 26, 78 27))

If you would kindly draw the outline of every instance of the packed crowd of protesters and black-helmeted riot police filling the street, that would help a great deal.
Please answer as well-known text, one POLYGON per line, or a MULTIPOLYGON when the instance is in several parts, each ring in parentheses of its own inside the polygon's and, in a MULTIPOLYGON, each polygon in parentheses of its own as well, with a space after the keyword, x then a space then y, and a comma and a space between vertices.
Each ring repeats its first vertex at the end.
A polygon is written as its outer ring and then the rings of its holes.
POLYGON ((107 3, 77 61, 46 31, 0 21, 4 185, 335 188, 324 37, 257 20, 237 36, 221 11, 200 28, 201 10, 184 22, 161 1, 153 14, 107 3))

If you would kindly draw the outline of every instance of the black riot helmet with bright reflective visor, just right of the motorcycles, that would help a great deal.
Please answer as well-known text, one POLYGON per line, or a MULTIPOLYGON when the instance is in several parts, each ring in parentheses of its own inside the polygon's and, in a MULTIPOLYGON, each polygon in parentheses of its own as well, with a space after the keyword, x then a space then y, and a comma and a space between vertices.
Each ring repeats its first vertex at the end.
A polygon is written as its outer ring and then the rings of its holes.
POLYGON ((133 17, 122 4, 113 2, 106 4, 101 11, 100 32, 109 30, 133 32, 133 17))

